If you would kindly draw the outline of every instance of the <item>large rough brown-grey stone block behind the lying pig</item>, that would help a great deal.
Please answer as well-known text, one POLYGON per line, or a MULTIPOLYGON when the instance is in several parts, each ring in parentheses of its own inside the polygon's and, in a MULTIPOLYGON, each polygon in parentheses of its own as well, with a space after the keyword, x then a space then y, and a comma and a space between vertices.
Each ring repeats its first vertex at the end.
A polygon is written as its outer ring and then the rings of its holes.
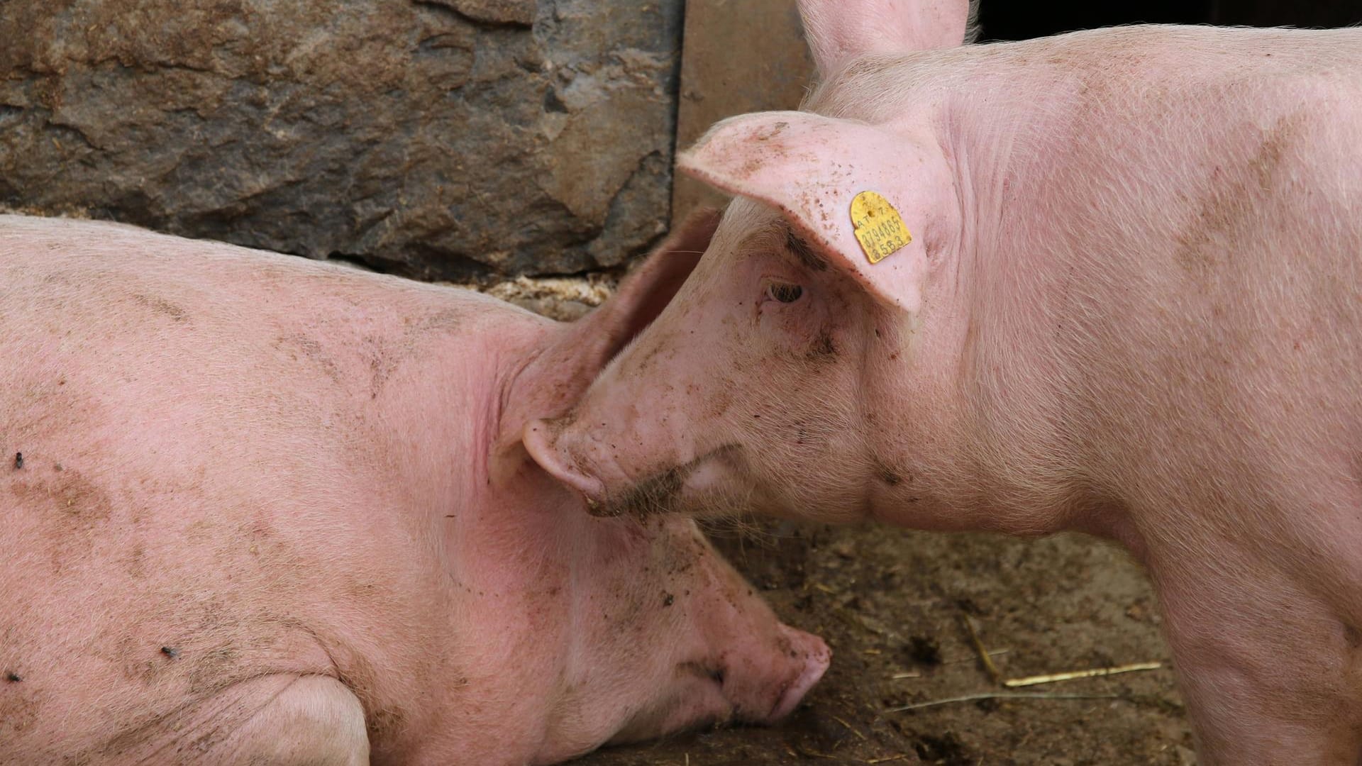
POLYGON ((3 0, 0 203, 425 279, 667 221, 682 0, 3 0))

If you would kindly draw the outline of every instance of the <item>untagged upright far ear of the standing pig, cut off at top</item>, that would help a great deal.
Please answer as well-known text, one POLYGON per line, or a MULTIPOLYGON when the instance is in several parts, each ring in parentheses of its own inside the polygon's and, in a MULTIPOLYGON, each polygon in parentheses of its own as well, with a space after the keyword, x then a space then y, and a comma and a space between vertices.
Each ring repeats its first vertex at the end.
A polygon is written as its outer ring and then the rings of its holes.
POLYGON ((819 76, 862 53, 949 48, 964 41, 971 0, 799 0, 819 76))

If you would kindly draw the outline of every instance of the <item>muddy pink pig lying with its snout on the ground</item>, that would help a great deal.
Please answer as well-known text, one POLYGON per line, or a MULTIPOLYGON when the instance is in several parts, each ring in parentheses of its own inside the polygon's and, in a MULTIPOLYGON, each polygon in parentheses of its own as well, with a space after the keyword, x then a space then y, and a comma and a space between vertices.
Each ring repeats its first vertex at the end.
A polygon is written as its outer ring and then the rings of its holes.
POLYGON ((787 713, 823 642, 520 444, 673 271, 558 324, 0 217, 0 763, 549 763, 787 713))

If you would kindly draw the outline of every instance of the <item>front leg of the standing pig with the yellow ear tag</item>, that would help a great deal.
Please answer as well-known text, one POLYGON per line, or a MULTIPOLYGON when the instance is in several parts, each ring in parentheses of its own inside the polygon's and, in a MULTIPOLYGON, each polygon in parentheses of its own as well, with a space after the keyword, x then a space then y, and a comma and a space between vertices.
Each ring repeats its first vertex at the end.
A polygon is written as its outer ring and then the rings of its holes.
POLYGON ((1362 634, 1263 560, 1190 551, 1150 568, 1201 766, 1362 763, 1362 634))

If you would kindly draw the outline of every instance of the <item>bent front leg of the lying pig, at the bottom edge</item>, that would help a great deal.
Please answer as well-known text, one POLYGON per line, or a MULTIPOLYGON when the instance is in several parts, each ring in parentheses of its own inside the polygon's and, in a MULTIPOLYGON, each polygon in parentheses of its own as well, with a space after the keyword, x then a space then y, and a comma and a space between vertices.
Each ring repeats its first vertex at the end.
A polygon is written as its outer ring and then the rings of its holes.
POLYGON ((358 698, 336 679, 267 675, 121 732, 95 761, 361 766, 369 736, 358 698))

